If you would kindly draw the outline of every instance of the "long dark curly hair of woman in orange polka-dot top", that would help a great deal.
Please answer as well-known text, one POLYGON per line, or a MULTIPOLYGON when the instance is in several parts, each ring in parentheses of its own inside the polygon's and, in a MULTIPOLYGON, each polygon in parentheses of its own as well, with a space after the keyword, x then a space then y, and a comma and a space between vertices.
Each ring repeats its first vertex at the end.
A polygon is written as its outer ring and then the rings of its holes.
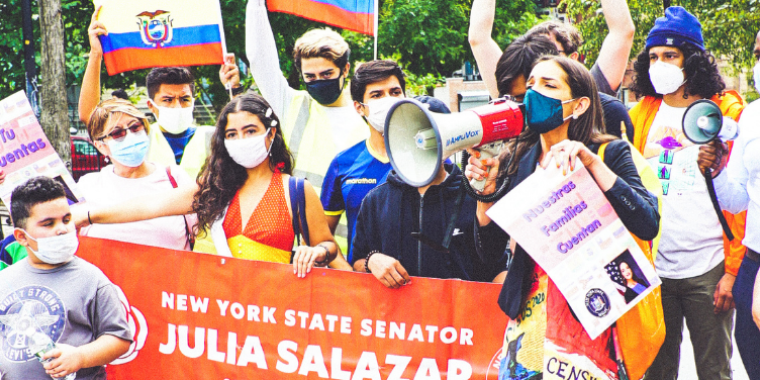
POLYGON ((211 155, 198 175, 200 188, 193 199, 193 212, 198 214, 196 235, 205 234, 214 221, 221 218, 232 198, 248 179, 246 169, 238 165, 224 146, 224 130, 230 114, 248 112, 258 116, 265 126, 275 129, 274 142, 269 155, 269 169, 292 175, 294 159, 282 138, 280 119, 272 112, 263 97, 246 94, 229 102, 216 122, 216 131, 211 139, 211 155), (269 116, 267 116, 269 115, 269 116))

